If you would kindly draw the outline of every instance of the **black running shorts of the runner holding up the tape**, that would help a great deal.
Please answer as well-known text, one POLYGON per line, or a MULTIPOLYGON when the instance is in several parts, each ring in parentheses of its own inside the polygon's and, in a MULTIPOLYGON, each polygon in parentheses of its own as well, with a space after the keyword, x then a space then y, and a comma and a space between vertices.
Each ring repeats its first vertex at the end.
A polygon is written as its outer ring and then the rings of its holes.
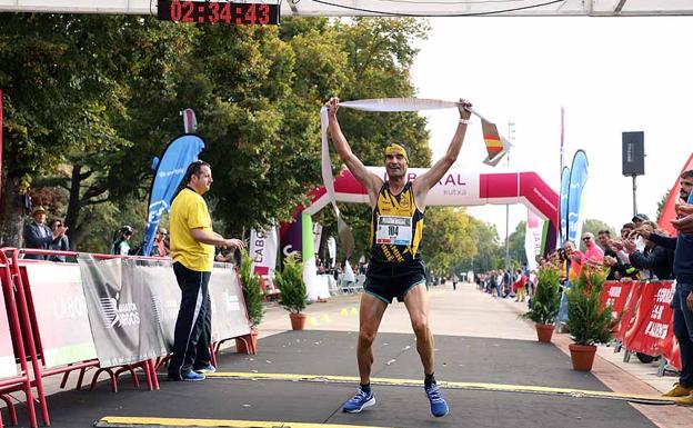
POLYGON ((425 283, 425 270, 421 260, 405 262, 371 261, 365 272, 363 289, 385 303, 404 296, 420 283, 425 283))

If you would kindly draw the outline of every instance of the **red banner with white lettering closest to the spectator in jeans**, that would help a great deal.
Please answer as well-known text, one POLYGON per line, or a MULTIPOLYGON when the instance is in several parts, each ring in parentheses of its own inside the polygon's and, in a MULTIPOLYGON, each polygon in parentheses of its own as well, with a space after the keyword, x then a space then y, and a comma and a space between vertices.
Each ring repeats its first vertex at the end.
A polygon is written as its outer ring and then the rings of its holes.
POLYGON ((673 330, 673 310, 669 303, 674 297, 674 283, 649 282, 642 289, 635 321, 625 332, 623 345, 633 352, 659 356, 673 330))

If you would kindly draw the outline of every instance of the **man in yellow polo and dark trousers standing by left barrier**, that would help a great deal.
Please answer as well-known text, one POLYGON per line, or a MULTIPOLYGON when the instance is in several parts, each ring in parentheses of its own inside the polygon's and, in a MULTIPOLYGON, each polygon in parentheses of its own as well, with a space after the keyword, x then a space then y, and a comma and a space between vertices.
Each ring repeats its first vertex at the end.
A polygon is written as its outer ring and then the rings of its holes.
POLYGON ((171 257, 181 305, 169 379, 204 380, 205 371, 215 370, 210 362, 212 311, 208 291, 214 247, 244 246, 239 239, 224 239, 212 230, 212 219, 202 198, 213 181, 209 163, 201 160, 190 163, 183 180, 188 185, 171 205, 171 257))

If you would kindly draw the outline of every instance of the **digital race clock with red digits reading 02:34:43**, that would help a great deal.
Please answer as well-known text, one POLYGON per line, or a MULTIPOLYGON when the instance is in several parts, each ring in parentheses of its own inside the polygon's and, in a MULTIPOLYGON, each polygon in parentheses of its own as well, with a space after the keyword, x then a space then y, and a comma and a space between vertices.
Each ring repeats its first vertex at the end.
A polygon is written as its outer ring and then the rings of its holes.
POLYGON ((158 18, 174 22, 275 26, 279 4, 159 0, 158 18))

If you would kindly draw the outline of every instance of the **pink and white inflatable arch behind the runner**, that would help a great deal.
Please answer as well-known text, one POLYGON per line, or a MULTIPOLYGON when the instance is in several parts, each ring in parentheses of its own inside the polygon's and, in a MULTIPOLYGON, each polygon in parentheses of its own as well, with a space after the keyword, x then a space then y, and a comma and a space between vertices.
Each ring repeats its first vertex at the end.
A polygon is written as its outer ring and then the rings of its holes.
MULTIPOLYGON (((368 167, 368 169, 385 178, 384 167, 368 167)), ((410 168, 408 179, 413 180, 428 168, 410 168)), ((341 202, 368 203, 365 188, 351 175, 343 170, 334 179, 335 198, 341 202)), ((320 211, 330 198, 324 187, 313 189, 309 195, 309 207, 297 207, 294 221, 282 223, 280 228, 280 246, 282 255, 301 251, 303 260, 313 260, 313 226, 311 216, 320 211)), ((523 203, 540 218, 549 220, 545 249, 555 248, 559 219, 559 195, 536 173, 525 172, 494 172, 480 173, 468 170, 451 169, 435 185, 426 198, 426 206, 469 207, 481 205, 523 203)), ((315 283, 315 269, 307 267, 304 279, 308 285, 310 300, 323 296, 312 286, 315 283)))

